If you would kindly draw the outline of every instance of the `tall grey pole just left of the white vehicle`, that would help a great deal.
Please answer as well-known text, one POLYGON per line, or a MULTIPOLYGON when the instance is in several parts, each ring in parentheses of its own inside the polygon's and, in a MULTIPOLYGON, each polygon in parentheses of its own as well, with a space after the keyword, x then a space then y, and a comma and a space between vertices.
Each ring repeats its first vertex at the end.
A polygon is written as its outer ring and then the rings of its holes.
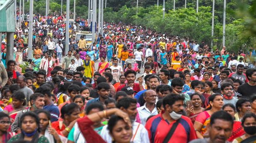
POLYGON ((67 0, 67 11, 66 11, 66 39, 65 39, 65 54, 68 54, 68 44, 70 37, 70 0, 67 0))

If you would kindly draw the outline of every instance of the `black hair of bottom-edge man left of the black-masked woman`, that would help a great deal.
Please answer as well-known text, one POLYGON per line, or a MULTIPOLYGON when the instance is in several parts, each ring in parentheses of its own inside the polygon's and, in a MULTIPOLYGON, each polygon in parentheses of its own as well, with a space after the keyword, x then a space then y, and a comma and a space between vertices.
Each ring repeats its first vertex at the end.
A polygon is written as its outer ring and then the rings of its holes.
POLYGON ((221 120, 229 121, 229 122, 231 122, 231 126, 233 126, 233 122, 234 122, 233 117, 229 113, 227 113, 225 111, 217 111, 214 114, 212 114, 211 115, 211 119, 210 119, 210 125, 213 125, 214 121, 216 119, 221 119, 221 120))

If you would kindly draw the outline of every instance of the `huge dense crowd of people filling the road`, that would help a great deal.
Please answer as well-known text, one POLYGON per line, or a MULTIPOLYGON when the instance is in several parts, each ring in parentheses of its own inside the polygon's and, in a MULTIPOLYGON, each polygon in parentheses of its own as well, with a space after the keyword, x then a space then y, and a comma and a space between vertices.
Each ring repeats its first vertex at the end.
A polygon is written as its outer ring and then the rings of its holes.
POLYGON ((75 38, 86 20, 69 25, 69 39, 65 15, 33 21, 32 59, 26 21, 13 60, 2 33, 1 143, 256 141, 254 48, 212 49, 122 22, 104 23, 89 46, 75 38))

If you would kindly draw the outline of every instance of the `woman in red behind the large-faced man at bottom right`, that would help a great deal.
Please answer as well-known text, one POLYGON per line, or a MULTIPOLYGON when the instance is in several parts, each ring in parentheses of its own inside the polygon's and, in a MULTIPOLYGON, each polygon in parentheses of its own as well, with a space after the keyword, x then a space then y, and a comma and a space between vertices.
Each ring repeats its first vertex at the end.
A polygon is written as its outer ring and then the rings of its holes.
MULTIPOLYGON (((228 103, 228 104, 225 104, 223 107, 222 107, 222 110, 223 111, 226 111, 227 113, 229 113, 233 118, 235 118, 235 114, 236 114, 236 107, 234 107, 233 104, 231 103, 228 103)), ((233 131, 232 131, 232 134, 230 135, 228 141, 232 142, 234 139, 242 136, 245 134, 245 131, 241 125, 241 122, 240 121, 234 121, 234 124, 233 124, 233 131)))

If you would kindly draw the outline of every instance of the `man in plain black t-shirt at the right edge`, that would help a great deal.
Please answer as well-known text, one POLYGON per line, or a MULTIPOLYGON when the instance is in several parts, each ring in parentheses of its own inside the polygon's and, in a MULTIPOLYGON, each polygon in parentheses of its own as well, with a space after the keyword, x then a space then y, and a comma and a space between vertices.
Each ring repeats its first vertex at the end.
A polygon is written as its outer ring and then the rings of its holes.
POLYGON ((246 70, 246 77, 248 78, 249 82, 240 85, 237 89, 237 92, 241 97, 249 99, 252 95, 256 94, 256 69, 248 68, 246 70))

